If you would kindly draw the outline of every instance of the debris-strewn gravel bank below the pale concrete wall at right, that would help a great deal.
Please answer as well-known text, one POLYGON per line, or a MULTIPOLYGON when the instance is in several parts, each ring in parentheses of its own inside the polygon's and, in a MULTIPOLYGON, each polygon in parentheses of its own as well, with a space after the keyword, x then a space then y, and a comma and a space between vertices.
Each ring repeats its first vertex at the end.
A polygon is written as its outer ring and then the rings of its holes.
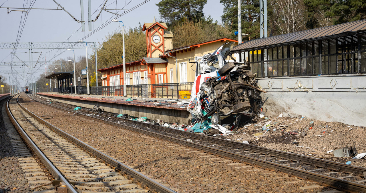
POLYGON ((351 147, 352 145, 355 146, 358 153, 366 152, 366 128, 364 127, 346 125, 340 122, 324 122, 290 117, 270 118, 259 123, 258 126, 254 126, 256 124, 258 123, 253 123, 246 129, 244 127, 239 128, 238 131, 240 132, 238 134, 221 137, 238 142, 246 140, 254 145, 318 157, 334 162, 346 163, 351 161, 353 166, 366 167, 366 156, 363 159, 352 159, 351 157, 335 157, 333 152, 327 153, 327 151, 335 148, 351 147), (262 127, 270 120, 272 120, 270 125, 273 126, 269 127, 269 131, 265 133, 265 131, 262 131, 262 127), (306 135, 302 136, 301 132, 309 128, 311 129, 305 131, 306 135), (273 131, 273 129, 276 130, 273 131), (258 138, 254 137, 254 134, 259 132, 264 133, 264 135, 258 138), (294 133, 291 134, 291 132, 298 134, 292 135, 294 133), (299 142, 299 144, 293 144, 294 141, 299 142))

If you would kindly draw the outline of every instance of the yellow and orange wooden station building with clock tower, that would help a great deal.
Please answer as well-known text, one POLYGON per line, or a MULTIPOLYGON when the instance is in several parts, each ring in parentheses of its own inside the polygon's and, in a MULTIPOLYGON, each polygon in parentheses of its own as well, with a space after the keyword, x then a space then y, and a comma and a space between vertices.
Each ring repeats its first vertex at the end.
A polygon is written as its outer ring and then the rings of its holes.
MULTIPOLYGON (((194 62, 195 56, 213 53, 228 41, 238 45, 237 40, 220 38, 172 49, 173 34, 167 29, 165 23, 156 22, 155 19, 153 23, 143 24, 142 30, 146 31, 146 57, 126 63, 126 85, 191 83, 195 78, 195 64, 188 63, 188 59, 194 62)), ((98 71, 102 73, 102 86, 123 85, 123 64, 98 71)))

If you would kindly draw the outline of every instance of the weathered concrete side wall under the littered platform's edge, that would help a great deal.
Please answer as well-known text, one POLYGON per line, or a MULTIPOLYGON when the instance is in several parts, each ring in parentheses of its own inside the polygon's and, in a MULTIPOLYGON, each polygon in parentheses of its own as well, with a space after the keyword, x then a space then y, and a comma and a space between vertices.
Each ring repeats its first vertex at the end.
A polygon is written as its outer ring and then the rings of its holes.
MULTIPOLYGON (((168 123, 180 123, 184 125, 188 125, 191 123, 191 119, 188 118, 190 115, 186 110, 176 110, 169 108, 161 108, 159 106, 151 107, 151 105, 143 106, 143 105, 128 105, 128 104, 119 104, 119 103, 111 103, 108 101, 94 101, 94 100, 79 100, 77 98, 72 99, 63 96, 50 95, 50 94, 42 94, 37 93, 37 95, 44 97, 46 99, 51 99, 53 101, 58 101, 61 103, 67 103, 76 105, 79 107, 85 108, 93 108, 94 105, 99 105, 100 108, 104 109, 106 112, 113 112, 117 114, 128 114, 135 117, 147 117, 148 119, 162 119, 168 123)), ((85 99, 86 97, 83 97, 85 99)), ((95 99, 95 98, 89 98, 95 99)))

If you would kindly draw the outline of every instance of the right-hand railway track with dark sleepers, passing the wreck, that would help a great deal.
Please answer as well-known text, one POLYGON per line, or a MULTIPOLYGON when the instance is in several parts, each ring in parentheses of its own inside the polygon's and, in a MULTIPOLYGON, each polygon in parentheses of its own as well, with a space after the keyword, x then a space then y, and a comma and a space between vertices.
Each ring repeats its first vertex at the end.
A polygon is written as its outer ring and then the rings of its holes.
POLYGON ((192 146, 206 153, 228 157, 232 160, 251 164, 252 166, 283 172, 292 177, 314 181, 320 185, 330 186, 341 191, 366 192, 366 168, 117 118, 111 113, 106 115, 104 113, 92 112, 85 108, 73 111, 75 108, 73 105, 49 104, 41 97, 32 98, 63 111, 74 112, 87 118, 105 121, 111 125, 170 140, 181 145, 192 146))

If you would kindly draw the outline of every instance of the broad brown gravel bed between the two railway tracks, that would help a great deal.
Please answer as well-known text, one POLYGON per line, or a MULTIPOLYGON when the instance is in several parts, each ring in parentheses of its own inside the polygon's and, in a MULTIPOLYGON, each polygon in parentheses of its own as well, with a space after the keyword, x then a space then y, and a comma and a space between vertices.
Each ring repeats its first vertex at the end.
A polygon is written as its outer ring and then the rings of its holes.
MULTIPOLYGON (((29 102, 27 96, 23 97, 26 108, 41 118, 50 118, 47 121, 52 125, 179 192, 302 192, 300 187, 316 185, 260 168, 228 166, 227 163, 234 162, 194 155, 192 151, 196 149, 179 148, 178 144, 29 102), (296 182, 285 183, 291 181, 296 182)), ((321 190, 330 189, 321 187, 307 192, 321 190)))

